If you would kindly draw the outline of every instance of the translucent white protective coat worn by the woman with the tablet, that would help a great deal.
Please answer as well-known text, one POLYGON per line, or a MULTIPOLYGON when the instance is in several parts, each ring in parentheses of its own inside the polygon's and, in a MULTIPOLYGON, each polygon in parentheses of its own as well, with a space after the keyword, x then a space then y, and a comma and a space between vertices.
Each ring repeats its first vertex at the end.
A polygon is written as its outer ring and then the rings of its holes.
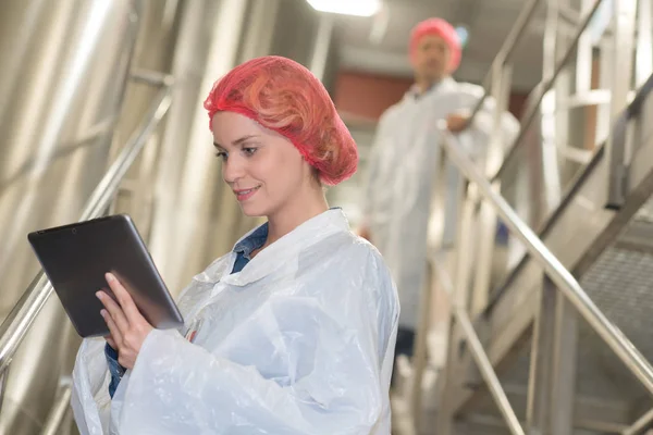
POLYGON ((398 301, 379 252, 333 209, 230 274, 235 259, 194 277, 185 331, 153 330, 113 400, 104 340, 83 341, 83 435, 390 433, 398 301))

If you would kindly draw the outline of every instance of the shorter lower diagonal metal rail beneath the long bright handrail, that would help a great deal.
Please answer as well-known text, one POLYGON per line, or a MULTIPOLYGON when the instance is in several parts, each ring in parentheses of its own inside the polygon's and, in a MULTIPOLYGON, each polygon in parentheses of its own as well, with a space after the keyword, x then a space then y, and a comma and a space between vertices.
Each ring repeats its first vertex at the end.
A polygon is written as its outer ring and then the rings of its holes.
MULTIPOLYGON (((440 264, 440 261, 432 262, 433 268, 435 269, 435 273, 438 274, 438 278, 442 284, 445 291, 449 295, 449 300, 453 302, 454 296, 454 285, 449 278, 448 273, 444 270, 444 268, 440 264)), ((483 350, 483 345, 476 331, 473 330, 473 325, 471 324, 471 320, 469 315, 465 311, 465 309, 456 303, 452 303, 453 313, 460 324, 460 328, 467 338, 467 343, 469 344, 469 349, 471 350, 471 356, 473 357, 475 362, 477 363, 485 384, 488 384, 488 388, 490 388, 490 393, 496 402, 503 418, 510 430, 513 435, 525 435, 523 428, 521 427, 521 423, 519 423, 519 419, 515 414, 515 410, 510 406, 510 401, 506 396, 503 387, 501 386, 501 382, 498 381, 498 376, 494 372, 492 368, 492 362, 490 362, 490 358, 483 350)))

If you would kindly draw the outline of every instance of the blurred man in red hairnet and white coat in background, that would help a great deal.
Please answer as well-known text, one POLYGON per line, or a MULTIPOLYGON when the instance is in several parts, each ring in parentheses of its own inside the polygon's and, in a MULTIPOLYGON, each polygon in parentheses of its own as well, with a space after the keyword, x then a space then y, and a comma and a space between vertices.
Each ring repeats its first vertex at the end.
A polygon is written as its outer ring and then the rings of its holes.
POLYGON ((359 234, 377 246, 393 273, 402 310, 396 355, 411 357, 427 271, 432 185, 440 159, 435 123, 446 120, 449 132, 468 135, 466 141, 472 145, 468 151, 478 156, 492 134, 494 102, 486 99, 469 123, 483 89, 452 78, 460 63, 461 44, 444 20, 426 20, 412 29, 409 57, 415 84, 379 121, 359 234))

